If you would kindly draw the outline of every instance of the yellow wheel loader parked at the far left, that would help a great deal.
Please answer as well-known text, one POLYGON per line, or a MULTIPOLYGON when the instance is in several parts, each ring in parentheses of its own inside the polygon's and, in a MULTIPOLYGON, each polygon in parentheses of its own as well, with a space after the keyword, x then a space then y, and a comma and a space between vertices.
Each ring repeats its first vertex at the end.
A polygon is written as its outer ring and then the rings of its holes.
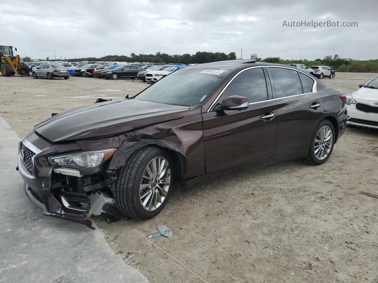
MULTIPOLYGON (((17 51, 17 48, 14 48, 17 51)), ((29 67, 21 63, 19 55, 13 53, 13 46, 0 45, 0 71, 3 76, 11 75, 29 75, 29 67)))

